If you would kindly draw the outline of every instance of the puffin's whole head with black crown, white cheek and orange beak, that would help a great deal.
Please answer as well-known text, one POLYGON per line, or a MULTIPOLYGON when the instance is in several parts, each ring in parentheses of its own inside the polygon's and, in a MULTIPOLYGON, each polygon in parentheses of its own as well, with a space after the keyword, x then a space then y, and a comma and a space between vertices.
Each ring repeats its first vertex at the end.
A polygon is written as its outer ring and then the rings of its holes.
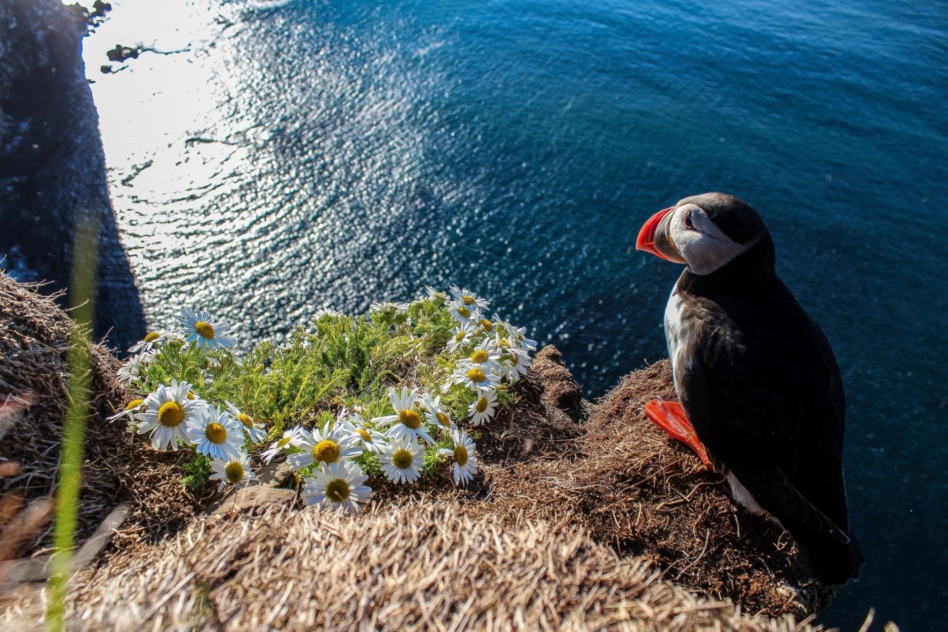
POLYGON ((703 193, 652 215, 635 247, 708 275, 765 236, 767 226, 745 202, 726 193, 703 193))

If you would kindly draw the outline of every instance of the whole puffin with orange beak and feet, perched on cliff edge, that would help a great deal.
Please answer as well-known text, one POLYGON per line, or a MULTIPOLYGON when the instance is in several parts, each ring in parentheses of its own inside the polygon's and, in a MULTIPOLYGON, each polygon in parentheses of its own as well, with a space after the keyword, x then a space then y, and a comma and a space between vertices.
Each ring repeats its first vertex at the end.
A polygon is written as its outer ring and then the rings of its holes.
POLYGON ((648 419, 726 476, 739 505, 789 532, 813 579, 858 579, 842 377, 826 335, 777 278, 757 211, 725 193, 687 197, 647 220, 636 249, 685 264, 665 307, 679 403, 648 402, 648 419))

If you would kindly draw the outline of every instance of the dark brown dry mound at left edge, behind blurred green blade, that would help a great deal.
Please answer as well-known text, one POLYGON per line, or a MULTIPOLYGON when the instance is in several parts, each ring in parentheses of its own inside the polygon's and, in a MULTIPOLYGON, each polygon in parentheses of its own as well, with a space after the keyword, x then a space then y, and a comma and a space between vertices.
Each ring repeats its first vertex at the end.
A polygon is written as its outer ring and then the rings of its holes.
MULTIPOLYGON (((22 467, 19 474, 0 479, 0 494, 27 501, 52 496, 56 486, 74 326, 55 297, 34 289, 0 271, 0 463, 22 467)), ((114 543, 124 548, 139 540, 157 541, 184 525, 206 498, 181 490, 186 453, 151 450, 133 442, 125 424, 107 421, 131 395, 116 379, 115 356, 100 345, 89 345, 89 352, 91 401, 77 541, 91 535, 121 502, 131 511, 114 543)), ((50 529, 47 525, 21 552, 48 546, 50 529)))

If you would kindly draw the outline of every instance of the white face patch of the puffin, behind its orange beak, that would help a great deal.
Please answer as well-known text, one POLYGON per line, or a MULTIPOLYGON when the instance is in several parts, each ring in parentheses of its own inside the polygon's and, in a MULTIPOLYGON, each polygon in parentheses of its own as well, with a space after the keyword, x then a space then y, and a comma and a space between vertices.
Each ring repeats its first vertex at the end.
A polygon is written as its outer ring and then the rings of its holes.
POLYGON ((693 204, 675 208, 668 219, 667 234, 688 269, 698 275, 711 274, 753 247, 759 239, 747 244, 731 241, 701 207, 693 204))

